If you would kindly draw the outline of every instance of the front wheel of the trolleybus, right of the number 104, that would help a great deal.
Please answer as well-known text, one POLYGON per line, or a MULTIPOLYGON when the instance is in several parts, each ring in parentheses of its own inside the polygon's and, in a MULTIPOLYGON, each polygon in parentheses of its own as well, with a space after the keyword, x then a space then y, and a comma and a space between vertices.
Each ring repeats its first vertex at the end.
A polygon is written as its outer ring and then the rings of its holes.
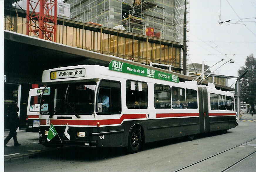
POLYGON ((133 154, 139 152, 142 147, 142 135, 139 127, 134 126, 128 136, 127 153, 133 154))

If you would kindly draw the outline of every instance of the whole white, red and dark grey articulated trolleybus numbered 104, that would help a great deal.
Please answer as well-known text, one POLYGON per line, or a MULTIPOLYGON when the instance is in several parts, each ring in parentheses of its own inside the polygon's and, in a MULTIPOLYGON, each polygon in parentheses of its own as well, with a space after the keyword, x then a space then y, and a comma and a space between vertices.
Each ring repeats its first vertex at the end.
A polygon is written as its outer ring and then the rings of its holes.
MULTIPOLYGON (((136 64, 136 63, 134 63, 136 64)), ((109 68, 78 65, 43 71, 39 143, 45 146, 127 147, 236 126, 234 95, 179 82, 177 75, 112 60, 109 68), (58 136, 47 141, 50 124, 58 136), (64 136, 66 125, 70 140, 64 136)))

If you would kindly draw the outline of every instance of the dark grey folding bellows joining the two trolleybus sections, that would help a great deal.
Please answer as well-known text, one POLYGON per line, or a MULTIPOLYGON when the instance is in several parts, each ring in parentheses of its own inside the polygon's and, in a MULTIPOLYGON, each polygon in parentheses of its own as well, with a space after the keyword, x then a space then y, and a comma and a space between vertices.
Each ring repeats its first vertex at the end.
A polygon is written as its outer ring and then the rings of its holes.
POLYGON ((207 100, 207 89, 198 87, 199 95, 199 121, 200 121, 200 133, 209 132, 209 111, 207 100))

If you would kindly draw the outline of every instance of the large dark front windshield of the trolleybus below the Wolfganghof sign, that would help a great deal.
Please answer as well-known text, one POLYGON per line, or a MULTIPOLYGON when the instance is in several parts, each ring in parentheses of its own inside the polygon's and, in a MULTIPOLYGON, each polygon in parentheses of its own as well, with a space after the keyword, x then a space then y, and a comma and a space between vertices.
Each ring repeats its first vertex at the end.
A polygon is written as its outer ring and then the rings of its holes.
POLYGON ((48 85, 50 96, 42 96, 42 115, 88 115, 94 112, 96 82, 48 85))

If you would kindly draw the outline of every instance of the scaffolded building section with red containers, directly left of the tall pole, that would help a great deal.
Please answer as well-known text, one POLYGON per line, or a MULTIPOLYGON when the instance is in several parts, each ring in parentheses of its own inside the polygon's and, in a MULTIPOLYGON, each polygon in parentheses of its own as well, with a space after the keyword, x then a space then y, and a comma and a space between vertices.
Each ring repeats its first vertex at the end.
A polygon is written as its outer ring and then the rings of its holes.
POLYGON ((183 42, 183 16, 182 0, 135 0, 129 12, 122 13, 122 25, 128 32, 183 42), (147 34, 147 28, 154 33, 147 34))

